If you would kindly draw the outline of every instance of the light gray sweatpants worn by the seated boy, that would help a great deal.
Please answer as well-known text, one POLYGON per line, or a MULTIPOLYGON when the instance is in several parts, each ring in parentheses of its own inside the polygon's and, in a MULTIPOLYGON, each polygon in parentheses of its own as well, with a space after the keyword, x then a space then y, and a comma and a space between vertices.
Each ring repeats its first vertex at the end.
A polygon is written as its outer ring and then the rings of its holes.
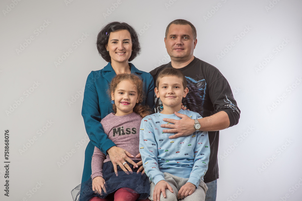
MULTIPOLYGON (((171 193, 169 189, 166 189, 166 198, 162 196, 162 193, 160 193, 160 200, 164 201, 177 201, 177 194, 180 188, 187 183, 189 178, 184 179, 182 177, 176 177, 173 174, 164 172, 165 180, 170 184, 172 187, 174 193, 171 193)), ((150 187, 150 196, 149 199, 153 200, 153 190, 154 190, 155 184, 151 182, 151 187, 150 187)), ((206 192, 207 192, 207 185, 204 183, 203 180, 199 183, 199 186, 195 191, 192 193, 192 195, 189 195, 185 197, 184 199, 179 199, 179 200, 190 200, 190 201, 195 201, 195 200, 200 200, 204 201, 206 197, 206 192)))

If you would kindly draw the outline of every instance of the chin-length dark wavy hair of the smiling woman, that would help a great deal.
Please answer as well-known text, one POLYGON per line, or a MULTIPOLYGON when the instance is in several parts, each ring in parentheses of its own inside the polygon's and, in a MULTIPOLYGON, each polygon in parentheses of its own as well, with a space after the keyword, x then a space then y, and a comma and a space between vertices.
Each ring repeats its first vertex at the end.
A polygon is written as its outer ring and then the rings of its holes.
POLYGON ((111 57, 109 52, 106 50, 106 45, 108 44, 109 35, 111 32, 127 30, 130 33, 132 41, 132 53, 128 61, 132 61, 137 55, 140 54, 140 42, 138 41, 137 32, 129 24, 125 22, 110 22, 105 25, 102 30, 98 33, 98 38, 96 41, 96 46, 98 48, 98 53, 106 62, 111 62, 111 57))

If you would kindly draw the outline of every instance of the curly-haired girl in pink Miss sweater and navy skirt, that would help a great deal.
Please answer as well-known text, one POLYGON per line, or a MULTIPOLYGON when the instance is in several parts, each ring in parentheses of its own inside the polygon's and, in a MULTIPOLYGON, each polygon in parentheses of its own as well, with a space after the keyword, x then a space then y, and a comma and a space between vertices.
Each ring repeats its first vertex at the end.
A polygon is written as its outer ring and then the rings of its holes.
MULTIPOLYGON (((136 173, 125 172, 119 166, 114 167, 109 155, 104 155, 95 147, 91 178, 76 187, 72 194, 81 189, 81 201, 149 200, 150 183, 146 174, 143 174, 139 155, 140 123, 143 117, 150 114, 149 107, 140 104, 143 100, 143 82, 136 75, 119 74, 111 81, 109 90, 114 113, 104 117, 101 124, 108 138, 118 147, 136 155, 132 156, 132 160, 140 167, 128 163, 136 173)), ((126 163, 124 161, 123 165, 126 163)), ((74 200, 78 200, 78 195, 74 200)))

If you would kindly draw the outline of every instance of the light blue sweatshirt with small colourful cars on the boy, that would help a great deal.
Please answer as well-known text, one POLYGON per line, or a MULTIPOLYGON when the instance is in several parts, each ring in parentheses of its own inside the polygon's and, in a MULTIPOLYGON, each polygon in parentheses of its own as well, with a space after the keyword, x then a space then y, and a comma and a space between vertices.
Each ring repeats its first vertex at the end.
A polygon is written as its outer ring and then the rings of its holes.
MULTIPOLYGON (((202 118, 198 113, 179 110, 191 119, 202 118)), ((164 179, 163 172, 189 178, 198 187, 208 168, 210 142, 207 132, 169 139, 173 133, 162 133, 163 118, 179 120, 175 114, 155 113, 143 118, 140 124, 140 154, 147 176, 153 183, 164 179)))

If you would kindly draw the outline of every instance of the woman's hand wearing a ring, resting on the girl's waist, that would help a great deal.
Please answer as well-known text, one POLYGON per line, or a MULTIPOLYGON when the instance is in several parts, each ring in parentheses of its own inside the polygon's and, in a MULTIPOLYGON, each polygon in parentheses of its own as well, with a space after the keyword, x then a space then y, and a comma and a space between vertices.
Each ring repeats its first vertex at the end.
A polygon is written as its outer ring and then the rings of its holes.
POLYGON ((134 163, 129 157, 134 157, 132 154, 127 152, 125 149, 119 148, 117 146, 110 147, 108 150, 108 155, 110 157, 110 160, 113 164, 114 172, 117 174, 117 165, 120 166, 120 168, 127 172, 130 171, 132 173, 132 169, 130 166, 126 163, 123 165, 124 162, 128 161, 128 163, 132 164, 134 167, 138 168, 138 165, 134 163), (126 169, 127 168, 127 169, 126 169))

